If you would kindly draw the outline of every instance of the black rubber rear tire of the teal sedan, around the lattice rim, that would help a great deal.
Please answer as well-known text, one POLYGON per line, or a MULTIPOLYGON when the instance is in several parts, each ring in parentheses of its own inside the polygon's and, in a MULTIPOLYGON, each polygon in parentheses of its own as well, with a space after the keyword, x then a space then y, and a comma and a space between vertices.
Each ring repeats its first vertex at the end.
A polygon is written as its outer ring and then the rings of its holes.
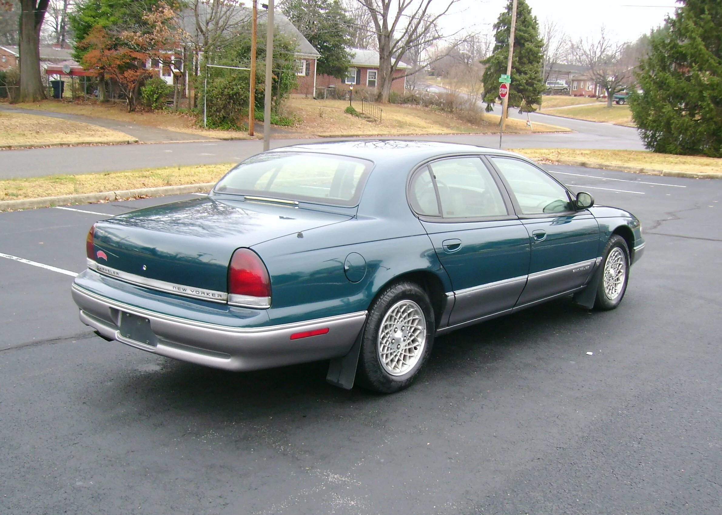
MULTIPOLYGON (((419 322, 419 325, 423 325, 419 322)), ((393 393, 409 387, 419 374, 431 354, 435 332, 434 310, 429 296, 417 283, 400 281, 386 289, 373 301, 364 326, 361 353, 359 356, 356 381, 361 387, 373 392, 393 393), (401 375, 390 374, 381 363, 378 345, 381 323, 386 314, 402 301, 412 301, 424 314, 426 337, 420 356, 407 371, 401 375)))

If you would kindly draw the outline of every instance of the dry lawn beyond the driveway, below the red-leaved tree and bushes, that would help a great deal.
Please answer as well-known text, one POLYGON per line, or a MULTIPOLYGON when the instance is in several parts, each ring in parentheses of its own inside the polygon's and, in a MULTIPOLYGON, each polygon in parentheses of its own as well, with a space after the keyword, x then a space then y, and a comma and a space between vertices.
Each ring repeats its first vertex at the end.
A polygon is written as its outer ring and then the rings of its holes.
POLYGON ((196 119, 193 116, 183 113, 170 113, 166 111, 134 111, 134 113, 129 113, 125 102, 95 102, 94 100, 88 100, 87 102, 66 102, 63 100, 44 100, 43 102, 17 104, 17 107, 25 107, 25 109, 35 109, 41 111, 52 111, 53 113, 69 113, 72 115, 107 118, 109 120, 116 120, 119 122, 137 123, 142 126, 164 128, 169 131, 200 134, 202 136, 210 136, 212 138, 222 136, 250 138, 250 136, 248 136, 245 132, 215 131, 212 129, 198 127, 196 126, 196 119))

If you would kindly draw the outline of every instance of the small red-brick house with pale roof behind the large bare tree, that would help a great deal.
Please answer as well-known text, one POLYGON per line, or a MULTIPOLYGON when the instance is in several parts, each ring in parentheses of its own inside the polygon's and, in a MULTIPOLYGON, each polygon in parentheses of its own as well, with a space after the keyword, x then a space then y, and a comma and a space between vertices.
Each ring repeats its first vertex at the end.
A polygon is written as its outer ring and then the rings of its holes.
MULTIPOLYGON (((349 56, 351 56, 351 67, 343 79, 338 79, 330 75, 318 74, 316 76, 316 91, 325 89, 329 86, 338 88, 348 88, 350 86, 360 86, 365 89, 376 89, 378 86, 378 52, 376 50, 368 50, 366 48, 349 48, 349 56)), ((316 63, 313 63, 315 71, 316 63)), ((394 79, 391 82, 391 91, 403 93, 406 87, 406 70, 411 69, 406 63, 399 63, 399 67, 393 73, 394 79)), ((298 92, 306 94, 305 92, 298 92)))

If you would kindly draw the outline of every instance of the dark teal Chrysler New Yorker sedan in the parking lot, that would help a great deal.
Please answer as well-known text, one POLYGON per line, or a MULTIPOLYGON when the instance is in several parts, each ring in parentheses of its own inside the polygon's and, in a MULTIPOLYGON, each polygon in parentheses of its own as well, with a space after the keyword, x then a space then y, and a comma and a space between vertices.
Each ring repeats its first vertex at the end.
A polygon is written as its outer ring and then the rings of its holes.
POLYGON ((329 359, 332 384, 396 392, 438 335, 571 294, 614 309, 643 249, 635 216, 518 154, 337 141, 98 221, 72 296, 144 351, 236 371, 329 359))

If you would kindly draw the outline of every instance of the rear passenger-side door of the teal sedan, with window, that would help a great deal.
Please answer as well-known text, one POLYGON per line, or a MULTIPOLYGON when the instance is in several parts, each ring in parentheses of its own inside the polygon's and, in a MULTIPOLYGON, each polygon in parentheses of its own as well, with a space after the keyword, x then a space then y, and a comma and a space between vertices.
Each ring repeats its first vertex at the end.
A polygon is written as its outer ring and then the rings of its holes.
POLYGON ((409 201, 451 278, 448 325, 512 309, 529 270, 529 234, 481 157, 439 159, 419 168, 409 201))

